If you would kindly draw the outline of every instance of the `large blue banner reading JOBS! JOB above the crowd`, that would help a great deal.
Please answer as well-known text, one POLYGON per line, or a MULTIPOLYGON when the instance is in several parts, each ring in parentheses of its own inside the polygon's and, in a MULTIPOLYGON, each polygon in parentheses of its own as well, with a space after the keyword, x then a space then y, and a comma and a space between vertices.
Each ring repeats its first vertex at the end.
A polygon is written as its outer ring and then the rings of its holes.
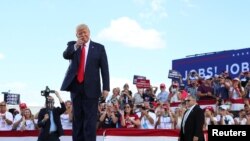
POLYGON ((204 53, 172 61, 172 69, 187 80, 190 72, 196 71, 201 77, 219 75, 227 71, 230 77, 249 71, 250 48, 204 53))

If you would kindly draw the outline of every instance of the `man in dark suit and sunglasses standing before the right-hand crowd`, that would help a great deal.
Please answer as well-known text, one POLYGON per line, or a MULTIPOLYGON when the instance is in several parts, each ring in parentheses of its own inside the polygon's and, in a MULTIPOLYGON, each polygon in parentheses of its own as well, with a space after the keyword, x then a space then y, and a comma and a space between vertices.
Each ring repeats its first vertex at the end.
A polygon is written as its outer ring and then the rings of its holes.
POLYGON ((205 141, 203 134, 204 112, 193 95, 186 100, 187 110, 183 115, 178 141, 205 141))

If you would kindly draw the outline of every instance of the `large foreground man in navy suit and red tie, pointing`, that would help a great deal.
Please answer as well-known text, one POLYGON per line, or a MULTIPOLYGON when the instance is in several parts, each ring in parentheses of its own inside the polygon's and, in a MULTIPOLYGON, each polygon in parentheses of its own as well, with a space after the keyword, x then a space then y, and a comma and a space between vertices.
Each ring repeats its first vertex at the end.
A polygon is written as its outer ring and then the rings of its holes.
POLYGON ((109 68, 103 45, 90 40, 87 25, 76 28, 77 41, 68 42, 63 57, 70 61, 61 90, 70 91, 73 104, 73 141, 96 141, 98 99, 109 92, 109 68))

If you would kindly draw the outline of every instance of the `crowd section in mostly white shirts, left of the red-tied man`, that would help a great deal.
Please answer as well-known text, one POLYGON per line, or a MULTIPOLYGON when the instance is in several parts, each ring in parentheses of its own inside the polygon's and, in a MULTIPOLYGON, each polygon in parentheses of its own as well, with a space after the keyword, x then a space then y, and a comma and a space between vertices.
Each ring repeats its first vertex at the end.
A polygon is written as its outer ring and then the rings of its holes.
MULTIPOLYGON (((72 129, 71 101, 65 102, 66 111, 61 115, 63 129, 72 129)), ((38 112, 39 113, 39 112, 38 112)), ((0 102, 0 131, 37 130, 38 113, 33 114, 26 103, 20 103, 19 109, 8 109, 5 101, 0 102)))

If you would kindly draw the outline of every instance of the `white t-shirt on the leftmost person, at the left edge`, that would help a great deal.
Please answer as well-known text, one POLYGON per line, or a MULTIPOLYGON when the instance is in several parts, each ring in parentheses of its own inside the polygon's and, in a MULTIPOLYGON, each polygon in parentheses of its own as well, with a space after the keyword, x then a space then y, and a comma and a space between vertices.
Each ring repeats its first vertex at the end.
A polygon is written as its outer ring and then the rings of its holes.
POLYGON ((0 114, 0 131, 9 131, 12 129, 12 125, 8 125, 6 121, 3 119, 3 116, 5 115, 5 118, 13 121, 13 115, 6 111, 4 114, 0 114))

